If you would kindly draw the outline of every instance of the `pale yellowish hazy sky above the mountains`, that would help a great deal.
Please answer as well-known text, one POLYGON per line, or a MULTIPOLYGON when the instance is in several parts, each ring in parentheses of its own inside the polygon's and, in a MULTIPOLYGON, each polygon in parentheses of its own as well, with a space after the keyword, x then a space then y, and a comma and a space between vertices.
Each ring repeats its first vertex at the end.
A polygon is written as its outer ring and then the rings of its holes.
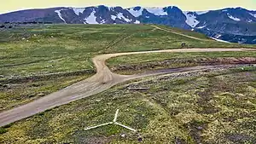
POLYGON ((242 7, 256 10, 256 0, 4 0, 0 5, 0 13, 20 9, 36 9, 49 7, 87 7, 95 5, 122 7, 165 7, 175 5, 183 10, 222 9, 242 7))

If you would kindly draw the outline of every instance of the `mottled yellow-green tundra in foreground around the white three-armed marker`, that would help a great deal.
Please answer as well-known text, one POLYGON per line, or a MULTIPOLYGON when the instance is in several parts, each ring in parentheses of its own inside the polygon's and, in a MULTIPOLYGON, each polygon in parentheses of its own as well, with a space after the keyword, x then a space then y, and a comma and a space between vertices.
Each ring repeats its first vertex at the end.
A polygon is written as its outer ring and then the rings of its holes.
POLYGON ((255 143, 255 67, 142 78, 9 124, 9 143, 255 143), (147 87, 143 91, 128 88, 147 87), (113 120, 116 125, 88 126, 113 120))

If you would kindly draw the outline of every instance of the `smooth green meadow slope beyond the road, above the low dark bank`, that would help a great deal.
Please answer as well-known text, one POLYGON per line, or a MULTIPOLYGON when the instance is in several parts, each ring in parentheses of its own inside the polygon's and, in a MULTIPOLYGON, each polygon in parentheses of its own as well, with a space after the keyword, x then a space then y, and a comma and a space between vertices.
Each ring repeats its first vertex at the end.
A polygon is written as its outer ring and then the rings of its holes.
MULTIPOLYGON (((190 32, 190 35, 204 38, 196 32, 190 32)), ((253 48, 253 45, 209 39, 199 41, 149 25, 18 26, 1 32, 0 75, 29 76, 93 69, 90 59, 94 55, 179 49, 181 43, 186 43, 189 48, 253 48)))

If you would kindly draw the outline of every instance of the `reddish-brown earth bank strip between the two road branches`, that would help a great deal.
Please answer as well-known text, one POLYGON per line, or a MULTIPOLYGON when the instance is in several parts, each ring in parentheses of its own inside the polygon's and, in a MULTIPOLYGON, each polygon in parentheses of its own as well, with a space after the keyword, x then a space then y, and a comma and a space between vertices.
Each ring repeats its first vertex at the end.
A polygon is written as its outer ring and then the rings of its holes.
POLYGON ((119 71, 140 71, 144 69, 183 67, 183 66, 208 66, 208 65, 228 65, 228 64, 255 64, 255 57, 224 57, 224 58, 197 58, 197 59, 172 59, 162 61, 152 61, 141 64, 112 66, 112 72, 119 71))

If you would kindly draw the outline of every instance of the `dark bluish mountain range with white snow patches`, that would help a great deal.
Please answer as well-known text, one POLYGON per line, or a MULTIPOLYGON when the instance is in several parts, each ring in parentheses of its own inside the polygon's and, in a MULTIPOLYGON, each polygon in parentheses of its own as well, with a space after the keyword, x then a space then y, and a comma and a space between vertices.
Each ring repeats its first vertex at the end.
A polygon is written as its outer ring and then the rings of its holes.
POLYGON ((0 14, 4 22, 53 22, 66 24, 158 24, 201 32, 231 43, 256 44, 256 11, 227 8, 183 11, 165 8, 107 7, 28 9, 0 14))

